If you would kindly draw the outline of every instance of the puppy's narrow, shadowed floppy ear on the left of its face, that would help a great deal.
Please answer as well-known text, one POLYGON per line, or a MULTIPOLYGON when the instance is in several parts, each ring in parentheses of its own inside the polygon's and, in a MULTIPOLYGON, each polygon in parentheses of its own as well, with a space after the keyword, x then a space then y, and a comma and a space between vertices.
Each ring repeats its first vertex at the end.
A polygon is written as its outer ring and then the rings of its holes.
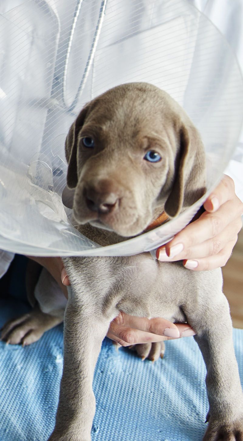
POLYGON ((76 120, 71 125, 65 141, 65 156, 68 162, 66 183, 69 188, 75 188, 77 185, 77 138, 81 127, 84 125, 88 112, 88 105, 78 114, 76 120))

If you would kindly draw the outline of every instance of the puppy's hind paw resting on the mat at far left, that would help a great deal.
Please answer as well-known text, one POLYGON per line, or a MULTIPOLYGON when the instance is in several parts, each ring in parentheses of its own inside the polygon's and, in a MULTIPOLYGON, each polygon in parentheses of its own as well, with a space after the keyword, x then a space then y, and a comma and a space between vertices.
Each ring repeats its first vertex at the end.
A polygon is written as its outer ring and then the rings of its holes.
POLYGON ((11 319, 1 329, 1 340, 7 344, 22 344, 27 346, 40 337, 48 329, 58 325, 62 320, 44 314, 40 310, 33 310, 18 318, 11 319))

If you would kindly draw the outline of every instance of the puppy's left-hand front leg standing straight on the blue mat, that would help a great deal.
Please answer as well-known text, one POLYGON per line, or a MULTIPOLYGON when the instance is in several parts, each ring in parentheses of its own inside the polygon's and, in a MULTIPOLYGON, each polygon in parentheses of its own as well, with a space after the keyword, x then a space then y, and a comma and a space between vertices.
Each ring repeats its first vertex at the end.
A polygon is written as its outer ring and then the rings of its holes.
POLYGON ((92 301, 82 304, 77 296, 69 295, 64 316, 63 377, 49 441, 91 440, 95 414, 92 380, 109 324, 110 319, 104 318, 92 301))

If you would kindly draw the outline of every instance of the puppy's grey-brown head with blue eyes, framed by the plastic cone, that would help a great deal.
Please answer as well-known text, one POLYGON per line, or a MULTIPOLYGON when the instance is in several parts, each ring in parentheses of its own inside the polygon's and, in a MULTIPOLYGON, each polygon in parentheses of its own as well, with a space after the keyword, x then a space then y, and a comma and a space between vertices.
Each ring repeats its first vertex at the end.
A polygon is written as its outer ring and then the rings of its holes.
POLYGON ((88 103, 65 152, 78 224, 137 235, 158 208, 174 217, 205 191, 198 131, 166 92, 147 83, 115 87, 88 103))

